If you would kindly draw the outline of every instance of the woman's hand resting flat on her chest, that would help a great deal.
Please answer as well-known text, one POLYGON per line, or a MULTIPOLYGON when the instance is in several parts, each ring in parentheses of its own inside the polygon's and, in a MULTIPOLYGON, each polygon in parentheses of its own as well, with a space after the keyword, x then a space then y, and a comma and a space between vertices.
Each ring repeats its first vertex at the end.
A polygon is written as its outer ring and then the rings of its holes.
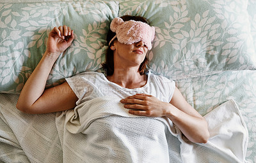
POLYGON ((147 117, 164 117, 170 109, 170 103, 164 103, 154 96, 148 94, 135 94, 120 101, 132 115, 143 115, 147 117))

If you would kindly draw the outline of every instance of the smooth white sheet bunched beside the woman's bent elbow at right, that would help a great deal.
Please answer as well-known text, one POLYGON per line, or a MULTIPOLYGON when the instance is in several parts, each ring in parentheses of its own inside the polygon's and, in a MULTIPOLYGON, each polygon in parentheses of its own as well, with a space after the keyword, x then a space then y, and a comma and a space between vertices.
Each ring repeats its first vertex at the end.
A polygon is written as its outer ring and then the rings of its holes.
POLYGON ((235 101, 230 100, 205 115, 210 138, 205 144, 182 142, 183 162, 247 162, 248 131, 235 101))

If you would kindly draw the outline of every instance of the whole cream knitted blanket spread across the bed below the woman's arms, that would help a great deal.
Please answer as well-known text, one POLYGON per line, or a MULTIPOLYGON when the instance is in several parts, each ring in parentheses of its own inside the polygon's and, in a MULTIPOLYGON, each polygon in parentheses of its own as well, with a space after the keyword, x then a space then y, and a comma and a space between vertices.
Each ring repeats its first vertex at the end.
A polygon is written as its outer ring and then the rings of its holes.
MULTIPOLYGON (((90 101, 84 105, 84 108, 45 115, 21 113, 15 108, 19 96, 10 94, 0 97, 2 97, 0 98, 0 162, 108 162, 111 159, 110 156, 114 158, 118 150, 123 152, 126 157, 120 159, 115 157, 115 162, 157 162, 157 160, 159 160, 158 162, 189 163, 246 162, 244 157, 248 132, 238 107, 232 100, 221 104, 205 115, 211 138, 206 144, 196 144, 184 138, 170 120, 133 117, 119 103, 119 99, 111 97, 90 101), (99 101, 101 102, 99 103, 99 101), (92 110, 93 108, 99 111, 92 110), (85 118, 86 114, 92 115, 92 118, 85 118), (124 121, 122 123, 117 123, 118 120, 109 121, 109 117, 121 118, 124 121), (128 120, 131 118, 134 122, 129 124, 128 120), (93 140, 90 134, 99 133, 99 131, 104 133, 110 126, 105 122, 114 124, 112 127, 114 126, 115 130, 107 135, 111 134, 115 139, 110 141, 107 139, 108 137, 100 135, 102 137, 99 138, 105 138, 102 139, 104 141, 95 143, 97 148, 95 146, 90 148, 88 142, 93 140), (97 125, 99 126, 97 127, 97 125), (145 125, 145 127, 140 129, 141 125, 145 125), (91 127, 98 128, 98 131, 93 131, 91 127), (126 131, 127 136, 121 135, 118 130, 126 131), (164 134, 161 134, 163 131, 164 134), (158 137, 156 137, 157 134, 158 137), (136 141, 139 144, 129 146, 132 141, 127 141, 129 139, 125 137, 128 136, 133 137, 134 140, 139 139, 136 141), (147 136, 156 143, 148 145, 147 136), (117 138, 120 138, 119 141, 117 138), (158 143, 164 142, 164 139, 166 139, 166 143, 164 143, 165 146, 162 145, 164 148, 160 148, 160 153, 158 143), (102 142, 109 142, 104 146, 109 149, 109 153, 97 151, 102 142), (111 146, 115 147, 115 145, 126 145, 126 147, 121 150, 117 148, 111 150, 111 146), (136 153, 137 150, 140 151, 140 154, 136 153), (143 151, 151 155, 145 157, 143 151), (109 155, 109 158, 102 157, 106 161, 100 160, 102 155, 109 155), (90 158, 97 159, 91 160, 90 158)), ((116 156, 118 156, 117 154, 116 156)))

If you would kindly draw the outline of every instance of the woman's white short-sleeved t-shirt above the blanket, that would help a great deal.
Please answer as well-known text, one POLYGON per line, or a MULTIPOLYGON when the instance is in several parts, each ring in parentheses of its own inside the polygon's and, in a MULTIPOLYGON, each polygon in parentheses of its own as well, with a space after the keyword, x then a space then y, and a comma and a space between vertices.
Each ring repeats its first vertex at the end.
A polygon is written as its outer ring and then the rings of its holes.
POLYGON ((66 79, 68 85, 79 98, 77 105, 100 96, 115 96, 124 99, 134 94, 150 94, 169 103, 175 90, 175 82, 164 76, 148 71, 147 83, 143 87, 127 89, 109 81, 103 73, 88 71, 66 79))

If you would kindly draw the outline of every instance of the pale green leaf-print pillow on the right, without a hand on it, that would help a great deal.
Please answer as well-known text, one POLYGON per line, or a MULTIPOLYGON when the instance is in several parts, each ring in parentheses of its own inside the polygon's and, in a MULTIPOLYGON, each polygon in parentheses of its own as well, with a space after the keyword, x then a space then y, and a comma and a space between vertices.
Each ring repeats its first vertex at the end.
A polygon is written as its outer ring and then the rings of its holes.
POLYGON ((255 69, 248 1, 130 0, 122 15, 141 15, 156 27, 149 68, 173 80, 255 69))

